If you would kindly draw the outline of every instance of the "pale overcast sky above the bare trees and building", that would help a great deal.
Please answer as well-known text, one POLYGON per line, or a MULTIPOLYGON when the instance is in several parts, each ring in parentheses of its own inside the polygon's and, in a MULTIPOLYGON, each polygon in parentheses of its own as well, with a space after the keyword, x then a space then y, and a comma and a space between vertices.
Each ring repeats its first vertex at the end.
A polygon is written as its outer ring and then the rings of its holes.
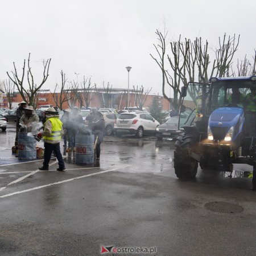
POLYGON ((256 48, 255 1, 249 0, 0 0, 0 80, 21 71, 31 53, 35 81, 42 80, 42 60, 51 58, 44 89, 60 83, 60 71, 69 80, 91 77, 102 87, 143 85, 162 95, 161 72, 150 53, 155 31, 168 30, 168 39, 208 39, 217 47, 218 36, 240 34, 237 57, 251 58, 256 48), (164 25, 165 24, 165 25, 164 25), (76 73, 80 75, 76 76, 76 73))

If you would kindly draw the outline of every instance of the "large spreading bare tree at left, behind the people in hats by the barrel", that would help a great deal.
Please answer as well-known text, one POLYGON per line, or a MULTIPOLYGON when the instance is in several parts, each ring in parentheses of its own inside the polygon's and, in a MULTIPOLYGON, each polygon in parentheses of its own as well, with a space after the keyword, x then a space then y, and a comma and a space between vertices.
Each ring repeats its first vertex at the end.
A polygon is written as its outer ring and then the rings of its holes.
POLYGON ((49 65, 51 63, 51 59, 47 59, 46 61, 43 61, 43 80, 40 82, 39 85, 36 85, 34 82, 34 76, 31 72, 31 66, 30 66, 30 53, 28 54, 28 60, 27 60, 27 82, 28 82, 28 89, 25 89, 24 86, 24 76, 25 76, 25 68, 26 68, 26 60, 24 60, 23 63, 23 72, 22 75, 19 77, 15 63, 14 65, 14 71, 11 71, 11 74, 9 75, 9 72, 6 72, 9 76, 9 79, 13 81, 13 83, 16 85, 16 88, 18 89, 20 95, 23 98, 23 101, 27 102, 27 104, 36 107, 36 94, 38 93, 38 90, 43 86, 43 84, 46 82, 48 76, 49 76, 49 65))

